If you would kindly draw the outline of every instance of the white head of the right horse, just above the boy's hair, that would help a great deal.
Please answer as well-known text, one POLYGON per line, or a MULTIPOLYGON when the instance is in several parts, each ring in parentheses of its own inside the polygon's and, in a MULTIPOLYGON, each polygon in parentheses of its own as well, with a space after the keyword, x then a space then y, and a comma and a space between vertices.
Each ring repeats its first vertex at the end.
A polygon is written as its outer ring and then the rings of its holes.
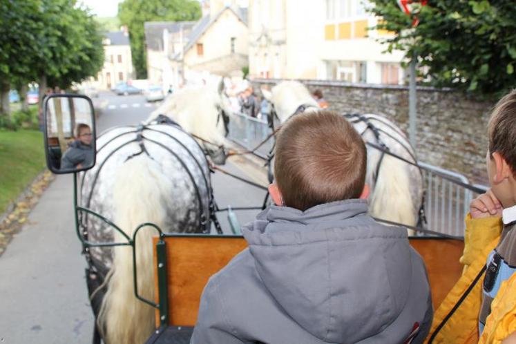
POLYGON ((319 106, 308 89, 300 82, 280 82, 270 91, 261 88, 263 97, 272 104, 271 120, 284 123, 289 117, 307 111, 316 111, 319 106))

